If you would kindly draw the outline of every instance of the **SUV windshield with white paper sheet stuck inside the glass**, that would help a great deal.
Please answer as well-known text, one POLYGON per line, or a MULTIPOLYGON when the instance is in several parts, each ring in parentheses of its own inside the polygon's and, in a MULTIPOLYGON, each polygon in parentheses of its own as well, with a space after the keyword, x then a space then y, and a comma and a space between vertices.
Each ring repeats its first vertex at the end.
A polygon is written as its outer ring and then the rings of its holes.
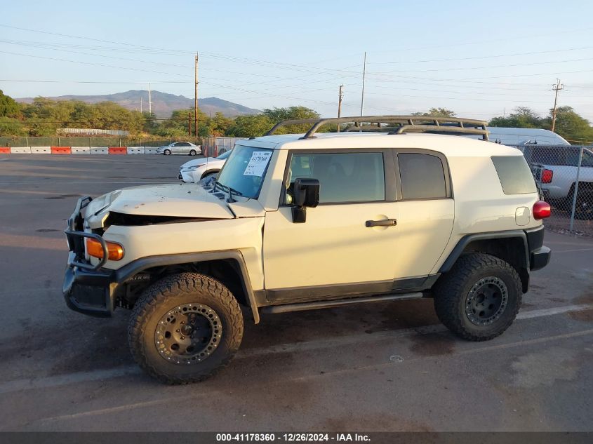
POLYGON ((241 196, 257 199, 271 158, 272 149, 237 145, 220 170, 216 182, 223 188, 232 188, 241 196))

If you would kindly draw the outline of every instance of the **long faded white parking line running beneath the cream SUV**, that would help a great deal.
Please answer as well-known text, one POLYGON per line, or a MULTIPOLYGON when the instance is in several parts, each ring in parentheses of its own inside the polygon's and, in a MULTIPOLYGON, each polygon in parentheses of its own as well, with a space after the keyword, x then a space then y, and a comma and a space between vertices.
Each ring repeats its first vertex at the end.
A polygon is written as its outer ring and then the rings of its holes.
MULTIPOLYGON (((540 309, 523 311, 517 316, 518 320, 541 318, 544 316, 554 316, 557 314, 567 313, 568 311, 583 311, 593 309, 593 305, 566 305, 564 307, 554 307, 551 309, 540 309)), ((239 350, 236 354, 236 359, 253 358, 255 356, 265 356, 279 353, 291 353, 296 351, 311 351, 316 349, 326 349, 330 347, 343 346, 347 344, 359 344, 363 342, 377 342, 384 339, 395 339, 408 335, 427 335, 429 333, 444 332, 446 328, 444 325, 427 325, 420 328, 406 328, 402 330, 389 330, 384 332, 375 332, 372 335, 356 334, 349 336, 342 336, 333 339, 322 339, 318 341, 309 342, 292 342, 287 344, 278 344, 272 347, 245 349, 239 350)), ((545 339, 545 338, 542 338, 545 339)), ((74 384, 76 382, 91 382, 101 379, 111 379, 126 375, 140 374, 140 369, 135 365, 128 365, 125 367, 117 367, 107 370, 92 370, 90 372, 76 372, 67 373, 65 375, 57 375, 33 379, 15 379, 0 384, 0 393, 11 393, 14 391, 31 390, 31 389, 47 389, 55 386, 63 386, 67 384, 74 384)))

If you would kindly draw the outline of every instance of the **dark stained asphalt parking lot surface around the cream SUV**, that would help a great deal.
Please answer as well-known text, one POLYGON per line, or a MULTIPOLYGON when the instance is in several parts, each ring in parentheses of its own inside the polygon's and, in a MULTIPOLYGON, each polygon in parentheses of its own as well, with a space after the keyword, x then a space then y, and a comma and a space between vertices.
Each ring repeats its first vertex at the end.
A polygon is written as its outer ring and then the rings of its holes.
POLYGON ((591 431, 593 239, 547 233, 519 318, 490 342, 432 300, 246 322, 212 379, 164 386, 128 352, 128 311, 65 306, 62 229, 79 196, 176 182, 185 156, 0 156, 2 431, 591 431))

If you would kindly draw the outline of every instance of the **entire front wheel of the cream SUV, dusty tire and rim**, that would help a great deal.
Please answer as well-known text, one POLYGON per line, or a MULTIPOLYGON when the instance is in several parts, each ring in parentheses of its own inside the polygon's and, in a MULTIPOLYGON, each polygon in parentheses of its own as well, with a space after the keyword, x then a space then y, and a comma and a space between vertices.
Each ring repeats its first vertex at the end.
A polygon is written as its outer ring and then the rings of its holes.
POLYGON ((232 359, 243 316, 228 288, 197 273, 167 276, 136 302, 128 326, 135 361, 166 384, 200 382, 232 359))

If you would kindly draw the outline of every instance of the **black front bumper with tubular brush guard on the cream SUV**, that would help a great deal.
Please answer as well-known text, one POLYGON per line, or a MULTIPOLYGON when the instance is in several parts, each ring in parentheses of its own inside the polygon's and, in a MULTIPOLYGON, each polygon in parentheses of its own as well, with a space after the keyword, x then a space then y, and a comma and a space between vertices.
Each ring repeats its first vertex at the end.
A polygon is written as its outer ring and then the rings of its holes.
POLYGON ((76 203, 74 213, 68 219, 65 230, 70 253, 64 276, 62 292, 67 306, 90 316, 112 316, 115 309, 115 289, 113 272, 102 269, 106 260, 93 265, 85 259, 84 238, 95 238, 103 246, 103 257, 107 258, 107 245, 98 234, 86 233, 83 227, 81 210, 91 202, 91 198, 81 197, 76 203))

